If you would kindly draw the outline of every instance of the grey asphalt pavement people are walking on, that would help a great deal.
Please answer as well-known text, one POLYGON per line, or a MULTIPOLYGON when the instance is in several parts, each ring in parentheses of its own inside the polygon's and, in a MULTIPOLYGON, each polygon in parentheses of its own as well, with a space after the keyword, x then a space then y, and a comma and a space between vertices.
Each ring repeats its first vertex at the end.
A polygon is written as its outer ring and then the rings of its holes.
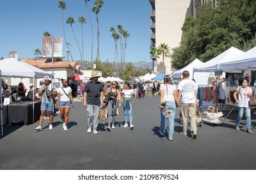
MULTIPOLYGON (((75 101, 70 110, 68 131, 61 126, 60 114, 54 116, 53 130, 48 129, 48 120, 43 122, 43 131, 35 131, 39 122, 5 125, 4 135, 0 136, 0 169, 256 169, 256 127, 252 135, 246 133, 243 118, 241 130, 236 131, 237 111, 222 126, 198 127, 198 139, 191 139, 190 133, 181 135, 182 124, 176 119, 173 141, 169 141, 158 132, 159 103, 159 96, 137 99, 133 107, 134 130, 123 128, 123 108, 119 108, 116 129, 106 131, 107 120, 100 120, 98 134, 87 133, 82 101, 75 101)), ((256 115, 251 112, 251 116, 252 125, 256 125, 256 115)), ((179 118, 179 108, 175 117, 179 118)))

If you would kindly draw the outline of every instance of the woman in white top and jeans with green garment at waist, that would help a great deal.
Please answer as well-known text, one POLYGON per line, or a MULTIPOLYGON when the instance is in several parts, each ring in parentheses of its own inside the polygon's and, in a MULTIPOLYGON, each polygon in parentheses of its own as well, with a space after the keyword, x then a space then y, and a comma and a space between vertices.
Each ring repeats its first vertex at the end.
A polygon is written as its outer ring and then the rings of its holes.
POLYGON ((123 91, 121 93, 123 95, 123 116, 125 118, 125 125, 123 125, 123 127, 128 127, 128 118, 127 118, 127 113, 128 113, 129 120, 130 120, 130 129, 134 129, 135 126, 133 125, 132 108, 136 101, 136 95, 134 91, 130 88, 129 82, 125 82, 123 84, 123 91))

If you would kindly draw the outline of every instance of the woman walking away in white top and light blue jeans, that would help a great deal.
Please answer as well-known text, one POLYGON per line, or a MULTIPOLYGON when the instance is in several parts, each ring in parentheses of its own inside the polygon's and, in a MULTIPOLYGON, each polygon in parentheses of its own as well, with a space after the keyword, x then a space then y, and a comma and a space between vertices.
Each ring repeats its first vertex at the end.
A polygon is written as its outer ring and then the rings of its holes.
MULTIPOLYGON (((169 120, 169 132, 168 139, 170 141, 173 140, 173 131, 174 131, 174 120, 175 120, 175 111, 176 105, 179 104, 177 88, 171 82, 171 78, 169 75, 165 75, 163 78, 163 84, 160 86, 160 104, 166 103, 169 112, 171 112, 171 116, 168 118, 169 120)), ((160 109, 161 112, 161 123, 159 133, 162 136, 165 136, 165 116, 163 115, 163 109, 160 109)))

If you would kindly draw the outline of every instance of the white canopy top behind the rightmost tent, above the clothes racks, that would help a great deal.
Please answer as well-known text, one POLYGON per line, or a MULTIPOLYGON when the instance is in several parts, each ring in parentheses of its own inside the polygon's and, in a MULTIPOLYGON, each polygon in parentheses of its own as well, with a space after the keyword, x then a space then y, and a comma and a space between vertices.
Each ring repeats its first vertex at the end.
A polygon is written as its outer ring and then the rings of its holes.
POLYGON ((209 61, 203 63, 200 66, 194 67, 193 72, 213 73, 216 70, 219 70, 219 65, 221 63, 225 63, 226 61, 232 58, 235 58, 237 56, 240 56, 243 53, 244 52, 242 50, 231 47, 228 50, 224 51, 222 54, 219 54, 219 56, 216 56, 215 58, 210 59, 209 61))

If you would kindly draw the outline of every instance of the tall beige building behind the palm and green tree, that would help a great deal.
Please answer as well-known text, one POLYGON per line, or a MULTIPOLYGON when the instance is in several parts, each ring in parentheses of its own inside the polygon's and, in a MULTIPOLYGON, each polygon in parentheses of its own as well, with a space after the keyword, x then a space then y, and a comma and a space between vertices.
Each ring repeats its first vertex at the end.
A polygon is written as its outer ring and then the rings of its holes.
MULTIPOLYGON (((160 44, 167 44, 172 50, 179 46, 182 40, 181 27, 187 16, 198 16, 200 5, 203 5, 206 0, 148 0, 152 11, 150 18, 152 24, 150 29, 151 47, 158 47, 160 44)), ((171 51, 172 52, 172 51, 171 51)), ((152 58, 155 60, 155 58, 152 58)), ((156 65, 158 74, 171 74, 171 58, 160 56, 156 65)), ((155 71, 156 71, 155 69, 155 71)))

